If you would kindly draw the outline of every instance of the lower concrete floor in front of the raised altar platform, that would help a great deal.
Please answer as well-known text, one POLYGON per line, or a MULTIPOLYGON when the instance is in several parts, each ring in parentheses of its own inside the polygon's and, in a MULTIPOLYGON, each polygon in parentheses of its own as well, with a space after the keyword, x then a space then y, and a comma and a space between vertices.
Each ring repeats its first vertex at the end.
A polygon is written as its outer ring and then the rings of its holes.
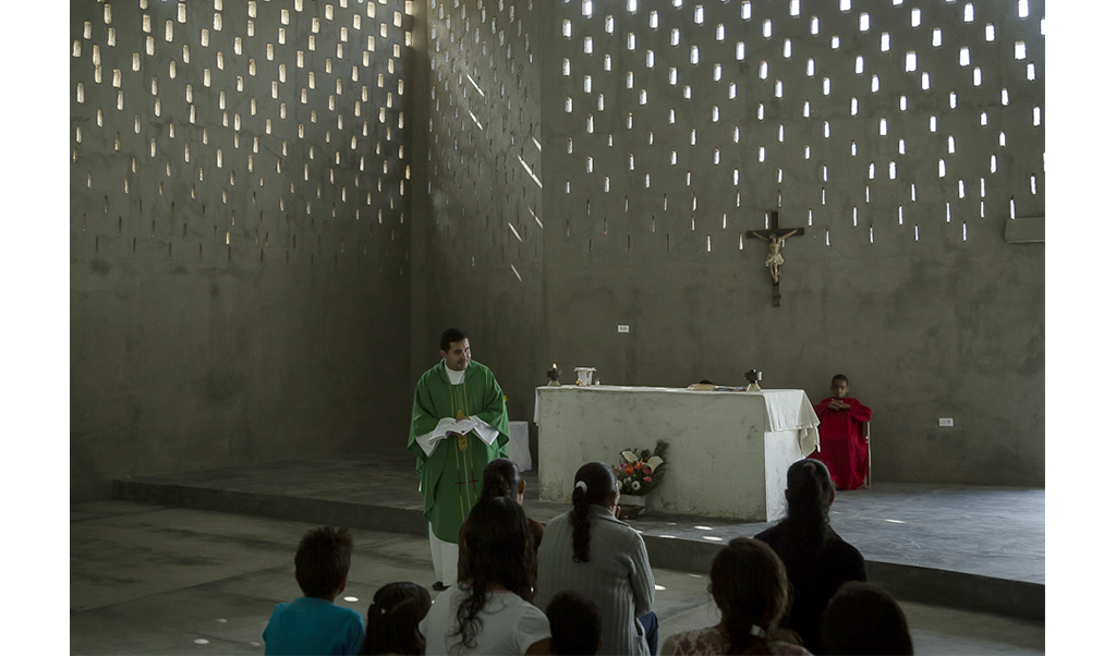
MULTIPOLYGON (((294 553, 314 523, 106 501, 70 508, 71 654, 262 654, 273 606, 299 596, 294 553)), ((354 530, 338 604, 433 579, 425 539, 354 530)), ((708 580, 655 568, 661 636, 716 621, 708 580)), ((1042 621, 903 602, 916 654, 1041 654, 1042 621)))

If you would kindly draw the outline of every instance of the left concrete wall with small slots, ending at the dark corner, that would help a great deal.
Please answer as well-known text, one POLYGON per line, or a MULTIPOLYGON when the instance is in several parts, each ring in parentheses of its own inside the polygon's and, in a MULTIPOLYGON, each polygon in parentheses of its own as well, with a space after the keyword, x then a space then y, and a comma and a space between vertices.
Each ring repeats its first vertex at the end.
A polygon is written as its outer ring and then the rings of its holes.
POLYGON ((71 3, 71 499, 405 433, 408 26, 341 4, 71 3))

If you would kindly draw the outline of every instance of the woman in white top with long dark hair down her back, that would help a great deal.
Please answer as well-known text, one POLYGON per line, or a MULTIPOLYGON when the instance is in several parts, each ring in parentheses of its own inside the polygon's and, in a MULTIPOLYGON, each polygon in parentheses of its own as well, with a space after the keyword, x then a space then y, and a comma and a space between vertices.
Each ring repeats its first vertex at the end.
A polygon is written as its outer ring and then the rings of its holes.
POLYGON ((530 602, 535 549, 523 509, 503 496, 477 502, 463 540, 464 578, 419 624, 426 654, 549 653, 550 623, 530 602))

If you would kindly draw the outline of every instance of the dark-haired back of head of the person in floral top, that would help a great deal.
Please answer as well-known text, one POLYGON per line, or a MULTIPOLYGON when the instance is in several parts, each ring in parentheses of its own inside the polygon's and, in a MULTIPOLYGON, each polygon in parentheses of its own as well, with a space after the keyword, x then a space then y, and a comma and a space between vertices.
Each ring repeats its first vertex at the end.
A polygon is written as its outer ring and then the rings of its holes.
POLYGON ((734 538, 716 553, 710 591, 729 633, 728 654, 754 653, 760 643, 766 645, 790 606, 782 561, 767 543, 751 538, 734 538))

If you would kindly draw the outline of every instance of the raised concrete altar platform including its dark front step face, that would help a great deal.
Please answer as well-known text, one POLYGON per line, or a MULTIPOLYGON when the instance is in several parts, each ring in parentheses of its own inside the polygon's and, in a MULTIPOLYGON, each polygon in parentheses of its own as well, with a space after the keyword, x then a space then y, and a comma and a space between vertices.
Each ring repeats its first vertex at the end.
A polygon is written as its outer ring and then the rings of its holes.
MULTIPOLYGON (((547 522, 568 510, 566 503, 538 499, 533 471, 525 480, 530 517, 547 522)), ((426 531, 414 460, 403 450, 132 477, 115 486, 117 499, 128 501, 414 536, 426 531)), ((868 579, 898 599, 1046 618, 1042 489, 876 483, 839 493, 830 520, 864 554, 868 579)), ((700 575, 728 540, 771 525, 667 515, 653 508, 631 523, 643 533, 652 566, 700 575)))

